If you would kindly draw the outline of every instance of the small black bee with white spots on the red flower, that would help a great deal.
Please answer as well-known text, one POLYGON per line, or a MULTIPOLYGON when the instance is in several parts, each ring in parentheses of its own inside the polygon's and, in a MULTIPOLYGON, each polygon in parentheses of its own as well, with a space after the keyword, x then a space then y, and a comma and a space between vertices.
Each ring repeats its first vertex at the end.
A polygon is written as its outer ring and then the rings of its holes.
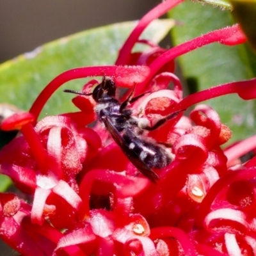
POLYGON ((143 131, 157 129, 167 120, 177 116, 180 111, 166 116, 166 118, 159 120, 154 126, 150 127, 143 122, 145 121, 144 118, 132 116, 132 110, 126 108, 129 103, 139 99, 145 93, 133 98, 133 90, 129 97, 120 103, 115 99, 116 85, 110 78, 104 78, 92 93, 85 94, 73 90, 64 90, 64 92, 92 95, 95 102, 97 102, 95 112, 98 119, 105 125, 113 140, 122 148, 131 163, 143 175, 156 183, 159 177, 152 168, 164 168, 172 162, 172 156, 164 145, 153 139, 143 138, 143 131))

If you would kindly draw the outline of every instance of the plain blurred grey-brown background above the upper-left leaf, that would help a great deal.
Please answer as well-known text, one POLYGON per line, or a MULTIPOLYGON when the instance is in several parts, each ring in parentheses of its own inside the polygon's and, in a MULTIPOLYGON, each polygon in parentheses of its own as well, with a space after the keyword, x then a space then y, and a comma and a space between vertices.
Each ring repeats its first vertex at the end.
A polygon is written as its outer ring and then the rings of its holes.
POLYGON ((0 63, 88 28, 140 19, 160 0, 0 0, 0 63))

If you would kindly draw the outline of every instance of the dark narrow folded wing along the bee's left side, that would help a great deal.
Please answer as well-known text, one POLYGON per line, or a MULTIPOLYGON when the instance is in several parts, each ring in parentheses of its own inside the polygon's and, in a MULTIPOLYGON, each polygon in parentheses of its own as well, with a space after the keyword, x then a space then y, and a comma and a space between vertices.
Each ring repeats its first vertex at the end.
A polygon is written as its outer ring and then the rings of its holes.
POLYGON ((156 183, 157 180, 159 180, 158 175, 147 166, 145 162, 143 162, 138 154, 134 152, 131 148, 129 148, 129 145, 125 143, 124 138, 121 136, 120 132, 118 132, 115 128, 115 126, 109 121, 108 116, 102 116, 102 121, 104 122, 104 125, 106 126, 106 129, 110 132, 111 136, 115 140, 116 144, 122 148, 125 155, 129 158, 131 163, 138 168, 138 170, 143 173, 148 179, 150 179, 152 182, 156 183))

